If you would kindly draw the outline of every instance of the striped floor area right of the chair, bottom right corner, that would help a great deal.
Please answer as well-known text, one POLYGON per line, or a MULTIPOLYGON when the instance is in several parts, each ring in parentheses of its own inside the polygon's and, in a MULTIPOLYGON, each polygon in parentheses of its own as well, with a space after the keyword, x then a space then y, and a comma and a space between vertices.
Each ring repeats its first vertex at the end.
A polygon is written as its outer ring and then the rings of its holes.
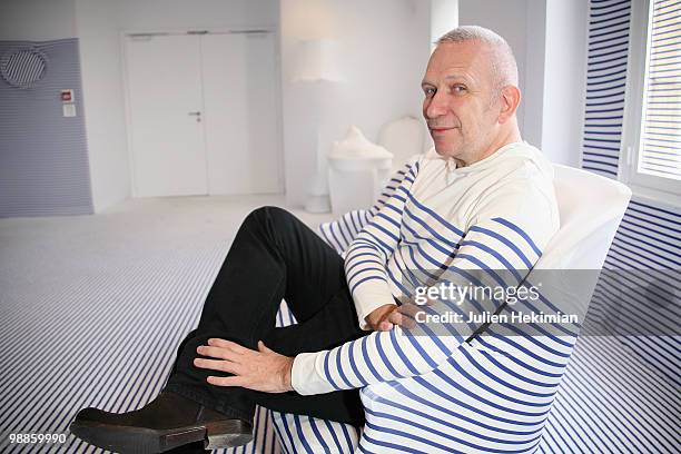
MULTIPOLYGON (((681 446, 681 382, 651 366, 626 343, 582 336, 549 416, 544 453, 677 453, 681 446)), ((668 339, 677 345, 681 339, 668 339)))

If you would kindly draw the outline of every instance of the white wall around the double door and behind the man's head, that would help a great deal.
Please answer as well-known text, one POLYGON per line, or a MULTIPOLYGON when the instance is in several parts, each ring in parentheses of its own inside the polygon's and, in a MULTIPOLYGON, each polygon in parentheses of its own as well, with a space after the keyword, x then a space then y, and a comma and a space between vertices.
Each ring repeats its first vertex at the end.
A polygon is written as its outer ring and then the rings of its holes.
POLYGON ((345 81, 327 90, 330 105, 320 131, 326 151, 351 125, 376 140, 386 121, 421 118, 418 87, 430 42, 458 16, 458 23, 488 27, 514 48, 525 139, 556 161, 576 164, 586 6, 586 0, 17 0, 0 1, 0 39, 80 38, 92 193, 101 211, 130 193, 121 30, 279 27, 287 200, 299 206, 314 174, 317 125, 310 87, 292 81, 300 40, 338 43, 345 81))

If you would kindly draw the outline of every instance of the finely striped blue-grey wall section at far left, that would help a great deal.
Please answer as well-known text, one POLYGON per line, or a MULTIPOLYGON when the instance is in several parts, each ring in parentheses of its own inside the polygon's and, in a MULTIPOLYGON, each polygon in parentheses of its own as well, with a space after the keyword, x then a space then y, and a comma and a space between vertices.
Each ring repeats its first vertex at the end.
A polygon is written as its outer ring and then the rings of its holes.
POLYGON ((91 214, 78 39, 0 41, 0 58, 27 46, 49 63, 31 88, 0 78, 0 217, 91 214), (62 89, 75 90, 76 117, 62 116, 62 89))

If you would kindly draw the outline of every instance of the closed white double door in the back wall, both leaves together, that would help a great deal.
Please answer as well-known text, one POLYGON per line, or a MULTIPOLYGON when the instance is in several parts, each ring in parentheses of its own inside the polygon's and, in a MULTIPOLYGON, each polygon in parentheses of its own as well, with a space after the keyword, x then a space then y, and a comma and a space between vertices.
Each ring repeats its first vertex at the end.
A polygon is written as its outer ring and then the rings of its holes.
POLYGON ((141 33, 125 46, 135 196, 283 191, 274 33, 141 33))

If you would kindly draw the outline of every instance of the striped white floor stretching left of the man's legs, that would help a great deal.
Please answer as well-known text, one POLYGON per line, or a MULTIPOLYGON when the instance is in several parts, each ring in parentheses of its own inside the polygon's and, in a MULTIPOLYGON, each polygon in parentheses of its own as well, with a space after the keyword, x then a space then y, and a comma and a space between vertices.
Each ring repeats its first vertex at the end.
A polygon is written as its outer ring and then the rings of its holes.
MULTIPOLYGON (((283 197, 131 199, 92 216, 0 219, 0 452, 11 433, 67 433, 83 406, 137 408, 175 348, 244 217, 283 197)), ((292 210, 310 227, 330 215, 292 210)))

